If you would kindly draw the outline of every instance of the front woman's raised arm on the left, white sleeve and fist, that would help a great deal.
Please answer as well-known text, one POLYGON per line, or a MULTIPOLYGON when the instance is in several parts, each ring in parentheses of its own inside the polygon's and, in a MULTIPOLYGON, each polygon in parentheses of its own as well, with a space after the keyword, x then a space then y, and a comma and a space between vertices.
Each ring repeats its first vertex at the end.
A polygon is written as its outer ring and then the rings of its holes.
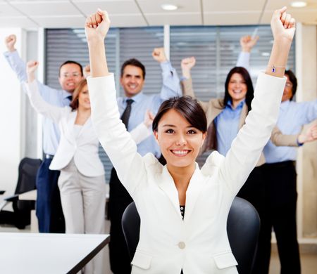
POLYGON ((146 181, 146 171, 135 141, 120 120, 113 74, 108 72, 104 48, 109 26, 108 14, 101 10, 89 16, 85 23, 92 75, 87 79, 92 123, 118 178, 133 197, 139 183, 146 181))

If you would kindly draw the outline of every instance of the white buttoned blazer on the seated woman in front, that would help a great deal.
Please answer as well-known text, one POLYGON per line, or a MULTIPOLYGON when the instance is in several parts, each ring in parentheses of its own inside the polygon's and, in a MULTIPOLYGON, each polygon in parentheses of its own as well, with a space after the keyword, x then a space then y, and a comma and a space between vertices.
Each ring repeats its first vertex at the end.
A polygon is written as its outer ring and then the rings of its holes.
MULTIPOLYGON (((182 220, 178 191, 166 166, 137 146, 119 119, 113 75, 88 79, 92 123, 141 218, 132 273, 237 273, 226 223, 232 200, 275 126, 285 79, 261 73, 252 110, 226 157, 213 152, 192 175, 182 220)), ((243 248, 243 247, 242 247, 243 248)))

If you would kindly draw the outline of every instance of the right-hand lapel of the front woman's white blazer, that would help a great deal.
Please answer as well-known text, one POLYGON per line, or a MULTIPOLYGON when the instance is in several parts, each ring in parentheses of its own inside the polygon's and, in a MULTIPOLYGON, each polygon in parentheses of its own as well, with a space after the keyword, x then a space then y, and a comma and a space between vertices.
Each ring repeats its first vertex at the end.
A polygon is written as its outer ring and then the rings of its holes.
POLYGON ((201 171, 196 163, 196 169, 192 178, 189 181, 189 185, 186 191, 186 205, 185 205, 185 217, 184 221, 189 220, 192 212, 194 211, 194 206, 199 198, 201 190, 206 184, 207 178, 201 174, 201 171))

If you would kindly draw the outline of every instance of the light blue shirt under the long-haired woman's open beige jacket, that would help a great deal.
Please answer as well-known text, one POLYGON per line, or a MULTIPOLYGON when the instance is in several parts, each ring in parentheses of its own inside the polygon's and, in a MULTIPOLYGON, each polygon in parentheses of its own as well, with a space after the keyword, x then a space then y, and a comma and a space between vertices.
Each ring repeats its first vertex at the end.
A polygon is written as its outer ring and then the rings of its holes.
POLYGON ((229 100, 223 111, 215 119, 217 150, 223 156, 227 154, 233 139, 239 131, 243 105, 244 100, 233 108, 229 100))

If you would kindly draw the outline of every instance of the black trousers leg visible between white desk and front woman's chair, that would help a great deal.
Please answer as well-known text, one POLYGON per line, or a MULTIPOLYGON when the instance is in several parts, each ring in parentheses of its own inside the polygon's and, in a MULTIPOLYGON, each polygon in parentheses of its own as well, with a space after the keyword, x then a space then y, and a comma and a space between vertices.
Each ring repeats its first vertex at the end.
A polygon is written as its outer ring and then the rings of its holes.
POLYGON ((111 221, 109 259, 114 274, 130 274, 131 260, 121 226, 125 208, 132 202, 128 191, 120 183, 116 170, 111 170, 109 182, 109 217, 111 221))

